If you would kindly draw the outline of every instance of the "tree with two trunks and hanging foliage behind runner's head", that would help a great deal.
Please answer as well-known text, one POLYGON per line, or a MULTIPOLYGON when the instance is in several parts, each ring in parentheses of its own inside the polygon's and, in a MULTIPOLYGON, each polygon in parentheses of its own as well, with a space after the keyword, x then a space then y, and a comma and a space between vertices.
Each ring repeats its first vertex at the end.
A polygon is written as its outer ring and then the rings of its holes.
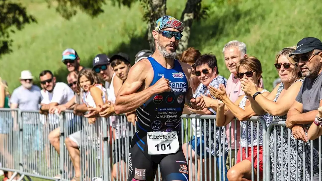
MULTIPOLYGON (((52 0, 46 0, 49 5, 52 0)), ((104 10, 101 8, 106 4, 107 0, 54 0, 58 2, 56 11, 66 19, 70 19, 77 13, 79 8, 81 11, 95 17, 104 10)), ((147 22, 147 31, 152 32, 155 22, 158 18, 166 14, 166 0, 109 0, 112 5, 125 5, 130 7, 132 3, 140 1, 143 9, 143 20, 147 22)), ((202 0, 187 0, 185 9, 181 15, 181 21, 185 25, 184 36, 180 41, 177 53, 182 53, 188 46, 190 37, 190 28, 194 20, 200 20, 207 16, 208 7, 202 7, 202 0)), ((223 0, 218 0, 223 1, 223 0)), ((154 50, 155 43, 151 33, 148 33, 148 42, 151 50, 154 50)))

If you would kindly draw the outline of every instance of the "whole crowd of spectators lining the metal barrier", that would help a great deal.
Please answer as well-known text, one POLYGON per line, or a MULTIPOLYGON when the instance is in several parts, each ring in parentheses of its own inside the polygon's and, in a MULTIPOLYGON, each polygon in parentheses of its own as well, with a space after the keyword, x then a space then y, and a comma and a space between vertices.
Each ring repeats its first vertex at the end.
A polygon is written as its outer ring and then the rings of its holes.
MULTIPOLYGON (((271 92, 264 89, 262 74, 265 69, 258 58, 247 54, 245 43, 230 41, 223 46, 222 53, 224 60, 221 61, 231 73, 227 78, 218 71, 217 58, 213 54, 202 54, 199 50, 190 47, 181 55, 177 55, 179 61, 192 67, 189 82, 194 97, 202 97, 206 102, 206 108, 203 110, 194 110, 185 105, 183 114, 216 115, 216 121, 213 122, 199 122, 197 119, 191 119, 193 138, 183 145, 183 149, 189 150, 184 151, 186 157, 198 160, 196 165, 193 161, 192 166, 189 167, 189 174, 192 175, 193 180, 195 175, 200 178, 200 174, 203 174, 200 173, 200 164, 198 164, 202 163, 201 160, 208 162, 207 164, 216 162, 217 169, 219 165, 223 166, 221 162, 224 162, 225 166, 220 170, 222 180, 224 178, 229 181, 251 180, 252 169, 255 178, 257 170, 259 170, 260 179, 263 177, 263 142, 265 140, 261 130, 264 125, 260 123, 252 126, 249 119, 255 115, 265 120, 266 127, 269 127, 272 121, 285 121, 286 127, 290 129, 290 131, 282 131, 281 127, 277 127, 276 137, 270 137, 270 159, 271 163, 276 162, 271 164, 270 169, 274 170, 276 179, 295 180, 297 175, 298 178, 309 180, 310 164, 313 164, 313 180, 318 180, 317 138, 322 135, 320 126, 322 109, 319 109, 322 105, 321 41, 307 37, 300 40, 296 47, 281 47, 280 52, 276 54, 275 62, 271 63, 272 66, 274 64, 279 75, 279 80, 274 81, 276 87, 271 92), (309 124, 312 125, 309 127, 309 124), (260 130, 259 135, 256 134, 257 129, 260 130), (254 133, 253 136, 251 132, 254 133), (311 143, 308 140, 314 140, 312 163, 310 163, 311 143), (289 147, 285 144, 288 141, 290 141, 289 147), (252 146, 253 149, 251 149, 252 146), (274 153, 276 147, 278 149, 274 153), (219 148, 224 149, 222 151, 219 148), (304 152, 306 167, 303 169, 304 152), (251 153, 254 155, 254 167, 251 165, 251 153), (235 155, 237 155, 236 158, 235 155), (288 163, 289 157, 290 163, 288 163), (288 168, 291 169, 290 172, 288 168)), ((141 50, 135 55, 134 62, 137 63, 152 54, 150 50, 141 50)), ((129 139, 125 139, 127 135, 124 128, 128 124, 118 121, 114 115, 114 103, 120 87, 128 78, 131 69, 130 56, 124 52, 119 52, 110 58, 106 54, 98 54, 93 58, 92 67, 87 68, 81 66, 81 58, 76 50, 68 48, 62 52, 62 63, 69 71, 66 77, 67 84, 57 82, 52 71, 44 70, 39 73, 40 88, 33 84, 33 74, 36 72, 23 70, 19 77, 21 86, 14 89, 10 95, 7 82, 0 78, 0 107, 39 111, 44 120, 48 121, 50 133, 47 136, 57 154, 60 154, 61 149, 59 119, 46 118, 48 115, 59 114, 65 110, 73 110, 75 115, 88 118, 88 123, 95 126, 99 125, 98 117, 109 118, 109 124, 113 125, 111 131, 116 135, 114 138, 116 142, 121 140, 124 143, 119 147, 125 150, 125 145, 129 145, 125 142, 129 139)), ((131 125, 135 125, 136 111, 126 113, 126 118, 131 125)), ((23 123, 33 126, 31 119, 28 115, 23 116, 23 123)), ((66 119, 82 124, 74 116, 66 119)), ((12 121, 12 128, 16 129, 18 123, 16 119, 12 121)), ((0 124, 0 145, 3 145, 9 139, 8 133, 11 130, 8 125, 11 123, 1 117, 0 124)), ((41 128, 37 127, 35 130, 38 132, 36 135, 28 131, 24 132, 24 139, 33 140, 33 147, 38 148, 40 144, 38 137, 43 133, 41 128)), ((75 171, 72 181, 79 181, 81 180, 81 130, 70 132, 64 143, 75 171)), ((5 155, 5 160, 10 166, 13 156, 8 149, 1 147, 0 153, 5 155)), ((127 164, 125 159, 127 155, 125 151, 121 153, 121 159, 114 159, 112 163, 113 178, 126 172, 124 168, 127 164)), ((115 147, 111 157, 117 157, 115 147)), ((211 170, 207 172, 213 173, 211 170)), ((5 177, 10 178, 12 174, 12 172, 6 172, 5 177)), ((54 178, 60 179, 60 177, 58 174, 54 178)))

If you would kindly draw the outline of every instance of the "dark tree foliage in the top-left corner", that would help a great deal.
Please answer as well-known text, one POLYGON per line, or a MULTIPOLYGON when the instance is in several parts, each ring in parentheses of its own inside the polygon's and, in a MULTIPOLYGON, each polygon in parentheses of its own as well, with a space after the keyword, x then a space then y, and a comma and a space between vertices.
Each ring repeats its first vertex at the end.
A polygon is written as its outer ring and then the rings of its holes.
POLYGON ((12 51, 11 33, 22 30, 25 24, 32 22, 36 22, 35 17, 27 14, 20 3, 0 0, 0 55, 12 51))

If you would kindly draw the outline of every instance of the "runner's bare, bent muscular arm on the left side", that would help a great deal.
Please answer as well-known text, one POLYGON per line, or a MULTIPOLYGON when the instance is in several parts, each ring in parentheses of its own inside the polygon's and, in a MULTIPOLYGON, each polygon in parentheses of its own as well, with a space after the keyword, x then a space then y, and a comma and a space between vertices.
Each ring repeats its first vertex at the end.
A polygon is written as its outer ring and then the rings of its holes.
POLYGON ((128 72, 128 79, 123 83, 116 96, 114 110, 116 114, 133 111, 140 107, 150 97, 156 94, 153 86, 142 91, 137 90, 142 86, 147 78, 146 67, 149 66, 145 59, 136 63, 128 72))

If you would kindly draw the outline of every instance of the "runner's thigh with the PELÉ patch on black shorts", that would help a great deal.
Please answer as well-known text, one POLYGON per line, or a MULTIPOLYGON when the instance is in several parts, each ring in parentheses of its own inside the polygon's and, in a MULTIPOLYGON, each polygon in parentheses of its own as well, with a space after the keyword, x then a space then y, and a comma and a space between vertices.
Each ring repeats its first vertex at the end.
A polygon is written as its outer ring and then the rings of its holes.
POLYGON ((154 180, 157 164, 134 144, 128 153, 129 177, 128 181, 154 180))

